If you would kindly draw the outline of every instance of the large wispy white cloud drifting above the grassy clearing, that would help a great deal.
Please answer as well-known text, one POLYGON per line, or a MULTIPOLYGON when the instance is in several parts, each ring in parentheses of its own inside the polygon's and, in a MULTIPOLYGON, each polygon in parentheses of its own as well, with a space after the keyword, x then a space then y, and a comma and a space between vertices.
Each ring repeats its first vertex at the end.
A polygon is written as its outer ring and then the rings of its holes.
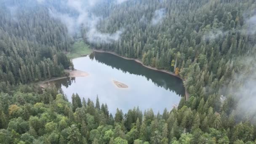
MULTIPOLYGON (((119 0, 123 3, 126 0, 119 0)), ((123 33, 123 29, 117 30, 115 33, 102 33, 97 29, 97 24, 100 17, 89 14, 90 8, 92 8, 100 0, 90 1, 88 3, 82 0, 67 0, 67 7, 76 11, 77 16, 71 16, 69 13, 59 13, 54 9, 49 9, 50 16, 60 19, 63 24, 67 25, 69 34, 75 35, 80 30, 81 25, 87 29, 86 37, 90 43, 112 43, 119 40, 120 35, 123 33)))

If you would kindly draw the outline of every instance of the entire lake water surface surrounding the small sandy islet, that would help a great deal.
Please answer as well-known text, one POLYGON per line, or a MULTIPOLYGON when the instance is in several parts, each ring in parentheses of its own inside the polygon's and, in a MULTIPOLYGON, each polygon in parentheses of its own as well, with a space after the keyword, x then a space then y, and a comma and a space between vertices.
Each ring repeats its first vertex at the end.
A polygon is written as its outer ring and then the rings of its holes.
MULTIPOLYGON (((94 52, 90 56, 73 59, 75 69, 89 73, 88 77, 75 77, 57 80, 54 83, 62 88, 71 100, 72 93, 95 102, 107 103, 109 112, 116 109, 127 112, 139 106, 144 111, 152 108, 155 113, 172 109, 184 96, 182 80, 164 72, 143 67, 132 60, 126 60, 110 53, 94 52), (112 80, 128 85, 117 88, 112 80)), ((82 99, 82 98, 81 98, 82 99)))

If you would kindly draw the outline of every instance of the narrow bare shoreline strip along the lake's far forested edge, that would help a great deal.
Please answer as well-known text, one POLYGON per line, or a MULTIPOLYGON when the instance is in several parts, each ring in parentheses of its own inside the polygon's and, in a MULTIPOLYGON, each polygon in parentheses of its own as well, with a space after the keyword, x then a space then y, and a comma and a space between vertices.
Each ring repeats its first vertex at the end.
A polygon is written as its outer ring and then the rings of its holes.
MULTIPOLYGON (((118 55, 117 53, 111 52, 111 51, 103 51, 103 50, 96 50, 96 49, 93 49, 93 51, 98 52, 98 53, 110 53, 110 54, 113 54, 113 55, 115 55, 115 56, 121 57, 121 58, 123 58, 123 59, 133 60, 133 61, 136 61, 137 63, 141 64, 142 66, 147 67, 148 69, 153 69, 153 70, 156 70, 156 71, 159 71, 159 72, 164 72, 164 73, 167 73, 167 74, 169 74, 169 75, 172 75, 172 76, 175 76, 175 77, 180 78, 183 82, 185 81, 183 78, 181 78, 179 75, 175 75, 173 72, 168 72, 168 71, 166 71, 166 70, 157 69, 157 68, 155 68, 155 67, 150 67, 150 66, 144 65, 144 64, 142 63, 142 61, 140 61, 139 59, 127 58, 127 57, 125 57, 125 56, 120 56, 120 55, 118 55)), ((188 99, 189 99, 189 93, 187 92, 187 89, 186 89, 186 88, 185 88, 185 98, 186 98, 186 101, 188 101, 188 99)))

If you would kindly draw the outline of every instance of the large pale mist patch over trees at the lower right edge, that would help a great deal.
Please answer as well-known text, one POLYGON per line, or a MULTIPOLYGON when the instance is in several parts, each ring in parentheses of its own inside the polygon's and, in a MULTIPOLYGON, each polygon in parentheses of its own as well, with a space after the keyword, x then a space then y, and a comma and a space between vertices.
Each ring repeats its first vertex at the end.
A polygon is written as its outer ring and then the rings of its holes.
POLYGON ((250 120, 256 123, 256 64, 255 56, 248 56, 244 59, 243 65, 245 69, 235 75, 233 84, 240 84, 239 88, 235 87, 230 90, 232 96, 236 96, 238 103, 235 107, 235 113, 240 120, 250 120))

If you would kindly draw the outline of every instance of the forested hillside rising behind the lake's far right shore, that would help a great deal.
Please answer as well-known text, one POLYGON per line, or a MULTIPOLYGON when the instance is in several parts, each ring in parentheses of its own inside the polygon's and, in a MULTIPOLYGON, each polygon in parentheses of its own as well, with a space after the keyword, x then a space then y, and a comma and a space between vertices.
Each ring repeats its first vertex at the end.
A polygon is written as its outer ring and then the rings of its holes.
POLYGON ((91 41, 83 29, 93 48, 181 76, 192 109, 202 102, 222 115, 235 112, 236 120, 255 122, 255 109, 246 106, 255 96, 254 0, 128 0, 100 8, 94 12, 105 16, 101 32, 122 34, 111 43, 91 41))

